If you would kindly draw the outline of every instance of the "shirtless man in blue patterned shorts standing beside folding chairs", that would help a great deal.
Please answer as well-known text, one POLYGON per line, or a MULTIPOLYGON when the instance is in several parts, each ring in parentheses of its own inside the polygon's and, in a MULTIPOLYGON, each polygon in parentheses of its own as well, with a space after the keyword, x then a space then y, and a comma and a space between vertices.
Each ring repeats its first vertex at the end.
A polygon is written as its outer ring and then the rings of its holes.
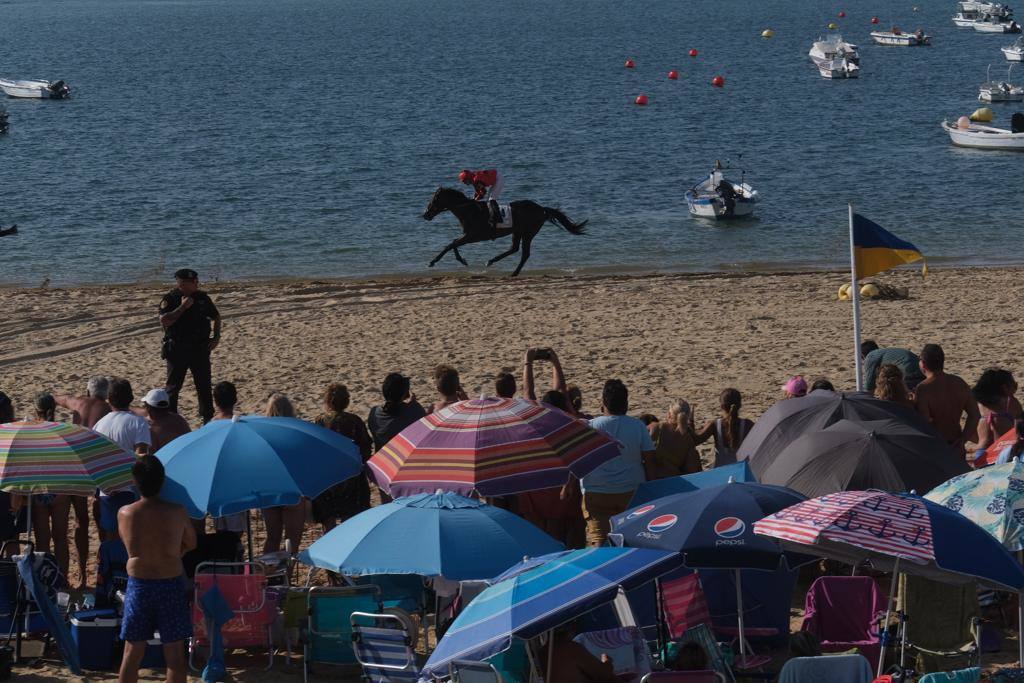
POLYGON ((118 530, 128 550, 121 639, 120 683, 135 683, 146 641, 160 632, 167 659, 167 683, 184 683, 186 664, 181 641, 191 636, 188 587, 181 556, 196 547, 196 532, 185 509, 160 500, 164 466, 155 456, 142 456, 131 470, 141 500, 118 511, 118 530))

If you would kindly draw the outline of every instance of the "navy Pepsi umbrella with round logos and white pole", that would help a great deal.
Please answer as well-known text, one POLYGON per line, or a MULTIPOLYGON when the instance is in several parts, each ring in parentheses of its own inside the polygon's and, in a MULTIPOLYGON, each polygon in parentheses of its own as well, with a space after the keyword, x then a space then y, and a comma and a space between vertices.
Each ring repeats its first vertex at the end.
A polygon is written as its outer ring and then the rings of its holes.
POLYGON ((733 481, 627 510, 611 518, 609 538, 635 548, 682 553, 686 566, 694 569, 735 569, 739 654, 745 659, 740 569, 776 569, 783 559, 796 567, 813 559, 785 553, 778 542, 755 536, 754 523, 805 500, 781 486, 733 481))

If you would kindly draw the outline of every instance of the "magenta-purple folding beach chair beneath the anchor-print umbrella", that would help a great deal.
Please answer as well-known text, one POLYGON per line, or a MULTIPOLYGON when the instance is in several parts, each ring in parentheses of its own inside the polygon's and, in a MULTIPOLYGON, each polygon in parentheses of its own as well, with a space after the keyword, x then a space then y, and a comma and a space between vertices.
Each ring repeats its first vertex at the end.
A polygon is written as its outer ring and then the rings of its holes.
POLYGON ((870 577, 820 577, 807 591, 801 631, 817 636, 822 652, 857 648, 876 671, 885 610, 886 598, 870 577))

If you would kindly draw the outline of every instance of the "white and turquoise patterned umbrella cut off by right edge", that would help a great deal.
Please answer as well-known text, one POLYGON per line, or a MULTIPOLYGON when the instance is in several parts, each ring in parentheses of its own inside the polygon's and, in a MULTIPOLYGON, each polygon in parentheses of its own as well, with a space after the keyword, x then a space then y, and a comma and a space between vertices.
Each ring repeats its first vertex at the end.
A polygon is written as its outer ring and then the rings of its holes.
POLYGON ((925 498, 961 513, 1007 550, 1024 550, 1024 463, 1019 460, 953 477, 925 498))

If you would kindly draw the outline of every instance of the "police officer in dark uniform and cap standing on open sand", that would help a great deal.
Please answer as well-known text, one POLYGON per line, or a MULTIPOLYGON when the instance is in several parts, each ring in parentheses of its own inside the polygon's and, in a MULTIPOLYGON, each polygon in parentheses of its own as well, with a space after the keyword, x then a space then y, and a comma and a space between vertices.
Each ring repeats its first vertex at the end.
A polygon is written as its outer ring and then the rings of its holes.
POLYGON ((167 393, 171 410, 178 410, 178 393, 191 371, 199 414, 206 424, 213 417, 210 383, 210 352, 220 343, 220 312, 206 292, 199 290, 199 273, 181 268, 174 273, 177 287, 160 302, 160 325, 164 328, 161 357, 167 360, 167 393), (213 336, 210 328, 213 328, 213 336))

